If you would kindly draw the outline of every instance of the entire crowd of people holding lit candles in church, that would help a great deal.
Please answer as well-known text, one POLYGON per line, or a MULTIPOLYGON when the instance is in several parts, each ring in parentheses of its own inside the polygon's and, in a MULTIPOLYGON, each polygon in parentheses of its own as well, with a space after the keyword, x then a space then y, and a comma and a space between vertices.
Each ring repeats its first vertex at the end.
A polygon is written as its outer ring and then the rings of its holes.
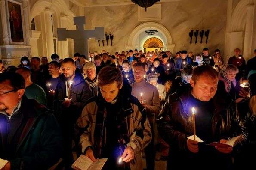
POLYGON ((250 167, 254 54, 247 63, 238 48, 227 63, 219 49, 210 55, 208 48, 195 55, 157 49, 52 54, 50 62, 22 57, 7 68, 0 60, 3 169, 68 170, 82 154, 93 162, 108 158, 104 170, 142 170, 142 158, 147 170, 160 159, 168 170, 250 167), (224 145, 240 135, 236 145, 224 145))

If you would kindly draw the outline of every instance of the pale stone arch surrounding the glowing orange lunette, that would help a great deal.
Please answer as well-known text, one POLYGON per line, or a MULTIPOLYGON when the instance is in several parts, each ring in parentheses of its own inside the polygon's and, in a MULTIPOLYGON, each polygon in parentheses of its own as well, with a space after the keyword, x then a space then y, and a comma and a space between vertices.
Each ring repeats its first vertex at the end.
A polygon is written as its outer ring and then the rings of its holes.
POLYGON ((134 48, 143 48, 145 41, 151 38, 152 36, 143 35, 143 37, 141 37, 140 42, 139 42, 139 37, 140 35, 142 35, 142 33, 145 32, 145 30, 148 30, 148 29, 157 30, 158 33, 155 34, 153 37, 159 38, 163 42, 164 50, 169 50, 173 53, 175 44, 173 44, 173 39, 170 32, 163 25, 156 22, 146 22, 137 26, 131 32, 128 38, 126 49, 128 50, 128 49, 134 49, 134 48))

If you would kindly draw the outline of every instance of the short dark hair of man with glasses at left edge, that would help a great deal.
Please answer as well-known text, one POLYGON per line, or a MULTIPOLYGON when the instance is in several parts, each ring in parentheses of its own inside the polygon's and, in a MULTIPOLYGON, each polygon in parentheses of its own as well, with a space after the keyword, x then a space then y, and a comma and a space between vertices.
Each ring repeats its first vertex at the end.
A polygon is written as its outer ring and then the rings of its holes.
POLYGON ((10 81, 12 88, 17 91, 19 89, 25 89, 25 80, 24 78, 15 72, 3 72, 0 74, 0 84, 10 81))

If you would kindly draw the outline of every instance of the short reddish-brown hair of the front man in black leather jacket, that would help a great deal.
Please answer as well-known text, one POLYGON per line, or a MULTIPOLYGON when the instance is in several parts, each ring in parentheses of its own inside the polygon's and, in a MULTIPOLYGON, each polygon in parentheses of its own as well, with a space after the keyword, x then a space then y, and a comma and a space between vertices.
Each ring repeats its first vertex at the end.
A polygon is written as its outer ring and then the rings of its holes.
POLYGON ((194 69, 194 72, 192 75, 192 80, 194 81, 195 84, 197 80, 200 78, 200 76, 202 75, 212 80, 219 79, 219 73, 215 69, 213 69, 213 67, 209 65, 201 65, 201 66, 197 66, 194 69))

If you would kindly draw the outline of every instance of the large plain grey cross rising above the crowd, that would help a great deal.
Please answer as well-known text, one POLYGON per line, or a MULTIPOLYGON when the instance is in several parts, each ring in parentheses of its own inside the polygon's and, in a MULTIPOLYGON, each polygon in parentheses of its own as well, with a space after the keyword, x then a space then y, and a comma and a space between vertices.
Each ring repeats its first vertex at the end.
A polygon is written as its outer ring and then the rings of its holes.
POLYGON ((88 39, 95 38, 96 40, 104 40, 104 27, 95 27, 94 30, 84 30, 83 25, 85 25, 85 17, 74 17, 74 25, 77 26, 77 30, 58 28, 58 41, 66 41, 67 38, 74 39, 74 52, 83 54, 88 58, 88 39))

